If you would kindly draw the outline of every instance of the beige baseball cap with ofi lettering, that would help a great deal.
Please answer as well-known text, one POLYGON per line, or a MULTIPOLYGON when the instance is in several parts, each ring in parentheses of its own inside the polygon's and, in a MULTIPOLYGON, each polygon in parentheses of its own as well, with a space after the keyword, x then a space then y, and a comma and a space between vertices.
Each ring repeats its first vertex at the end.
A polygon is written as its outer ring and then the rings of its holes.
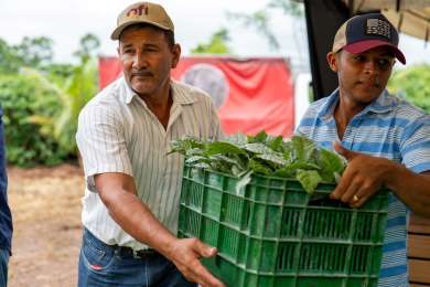
POLYGON ((119 13, 117 28, 111 33, 110 39, 119 40, 123 29, 137 23, 148 23, 174 32, 173 22, 164 8, 151 2, 137 2, 119 13))

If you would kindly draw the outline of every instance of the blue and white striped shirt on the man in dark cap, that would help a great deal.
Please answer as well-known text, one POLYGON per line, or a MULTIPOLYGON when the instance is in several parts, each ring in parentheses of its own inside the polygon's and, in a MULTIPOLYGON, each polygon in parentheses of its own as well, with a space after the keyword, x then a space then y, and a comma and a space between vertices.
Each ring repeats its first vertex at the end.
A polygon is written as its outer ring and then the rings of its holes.
MULTIPOLYGON (((430 116, 424 111, 384 91, 351 120, 340 140, 333 117, 337 102, 338 89, 313 103, 295 132, 326 149, 338 140, 347 149, 395 160, 417 173, 430 170, 430 116)), ((407 225, 408 208, 390 193, 379 286, 408 286, 407 225)))

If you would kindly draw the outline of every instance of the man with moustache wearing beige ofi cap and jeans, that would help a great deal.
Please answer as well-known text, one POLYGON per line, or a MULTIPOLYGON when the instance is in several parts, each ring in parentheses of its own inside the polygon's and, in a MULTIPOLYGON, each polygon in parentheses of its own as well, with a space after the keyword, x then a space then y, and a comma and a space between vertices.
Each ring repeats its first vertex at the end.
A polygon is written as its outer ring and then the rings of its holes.
POLYGON ((78 286, 224 286, 200 263, 216 254, 176 238, 183 136, 222 137, 207 94, 171 79, 181 47, 164 9, 139 2, 118 17, 123 76, 82 110, 76 134, 86 178, 78 286))

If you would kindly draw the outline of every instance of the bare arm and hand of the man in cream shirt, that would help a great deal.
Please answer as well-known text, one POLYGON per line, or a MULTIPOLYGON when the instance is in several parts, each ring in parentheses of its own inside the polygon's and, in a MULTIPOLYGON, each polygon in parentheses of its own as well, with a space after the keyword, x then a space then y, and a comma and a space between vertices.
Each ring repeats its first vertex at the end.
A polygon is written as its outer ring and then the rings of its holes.
POLYGON ((95 182, 110 215, 126 232, 172 261, 186 279, 204 287, 224 287, 198 261, 215 256, 216 248, 196 238, 178 240, 136 195, 135 181, 130 176, 103 173, 95 177, 95 182))

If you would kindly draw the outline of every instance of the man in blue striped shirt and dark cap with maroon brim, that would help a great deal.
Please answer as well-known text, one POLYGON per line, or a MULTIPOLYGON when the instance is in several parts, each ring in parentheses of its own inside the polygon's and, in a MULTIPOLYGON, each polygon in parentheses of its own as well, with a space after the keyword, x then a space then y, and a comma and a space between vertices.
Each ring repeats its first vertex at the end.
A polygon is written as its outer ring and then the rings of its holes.
POLYGON ((332 199, 358 208, 383 185, 393 191, 379 286, 408 286, 408 212, 430 216, 430 117, 385 89, 395 59, 406 63, 398 41, 383 14, 347 20, 327 54, 338 88, 297 129, 348 160, 332 199))

